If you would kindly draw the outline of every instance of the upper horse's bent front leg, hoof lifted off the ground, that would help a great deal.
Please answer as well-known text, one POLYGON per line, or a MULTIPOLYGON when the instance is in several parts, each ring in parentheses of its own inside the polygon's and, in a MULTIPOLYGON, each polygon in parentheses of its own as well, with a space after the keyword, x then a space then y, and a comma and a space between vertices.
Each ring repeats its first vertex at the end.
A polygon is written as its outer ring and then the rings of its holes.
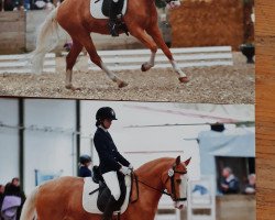
POLYGON ((143 29, 134 29, 131 31, 131 34, 134 37, 139 38, 151 51, 151 57, 148 62, 142 64, 141 66, 141 70, 146 72, 155 65, 155 54, 157 51, 157 46, 143 29))

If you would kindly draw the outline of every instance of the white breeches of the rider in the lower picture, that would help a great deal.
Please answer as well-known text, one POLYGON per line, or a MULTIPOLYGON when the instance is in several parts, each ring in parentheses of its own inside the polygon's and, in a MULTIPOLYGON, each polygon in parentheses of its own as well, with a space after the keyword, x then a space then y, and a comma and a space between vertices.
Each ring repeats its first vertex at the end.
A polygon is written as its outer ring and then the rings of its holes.
POLYGON ((118 201, 121 193, 120 193, 120 185, 119 185, 117 172, 108 172, 103 174, 102 176, 103 176, 106 185, 111 191, 111 195, 118 201))

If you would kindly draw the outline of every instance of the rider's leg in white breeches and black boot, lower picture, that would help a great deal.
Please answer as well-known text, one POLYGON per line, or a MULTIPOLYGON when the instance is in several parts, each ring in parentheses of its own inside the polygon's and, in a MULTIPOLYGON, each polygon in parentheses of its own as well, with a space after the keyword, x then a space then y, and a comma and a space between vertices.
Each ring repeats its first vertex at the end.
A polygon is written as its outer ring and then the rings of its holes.
POLYGON ((105 183, 107 187, 111 191, 111 198, 107 202, 105 212, 103 212, 103 220, 110 220, 113 213, 113 207, 114 204, 119 200, 121 191, 120 191, 120 185, 119 185, 119 179, 118 179, 118 174, 117 172, 108 172, 102 175, 105 183))

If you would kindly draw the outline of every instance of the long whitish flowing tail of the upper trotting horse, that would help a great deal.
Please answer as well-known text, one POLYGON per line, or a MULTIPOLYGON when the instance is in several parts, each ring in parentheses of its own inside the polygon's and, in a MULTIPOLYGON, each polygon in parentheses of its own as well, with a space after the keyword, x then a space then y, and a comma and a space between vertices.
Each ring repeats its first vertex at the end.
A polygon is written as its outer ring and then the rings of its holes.
POLYGON ((58 8, 54 9, 41 24, 36 33, 36 47, 31 54, 32 72, 34 74, 42 73, 43 62, 46 53, 54 50, 58 40, 64 32, 61 25, 56 21, 58 8))

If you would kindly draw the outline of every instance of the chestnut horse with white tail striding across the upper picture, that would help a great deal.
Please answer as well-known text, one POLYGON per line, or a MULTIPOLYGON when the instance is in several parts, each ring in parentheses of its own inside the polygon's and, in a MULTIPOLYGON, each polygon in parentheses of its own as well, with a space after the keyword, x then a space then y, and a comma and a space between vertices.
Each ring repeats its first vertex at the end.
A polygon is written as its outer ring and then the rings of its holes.
MULTIPOLYGON (((170 9, 180 6, 179 0, 164 0, 170 9)), ((154 66, 155 54, 160 47, 172 64, 174 72, 179 77, 180 82, 187 82, 189 79, 179 68, 174 59, 169 48, 165 44, 157 24, 157 11, 155 0, 128 0, 127 12, 123 16, 129 33, 136 37, 145 47, 151 50, 150 61, 142 64, 141 70, 146 72, 154 66)), ((66 0, 59 7, 54 9, 45 19, 36 36, 36 48, 32 53, 31 64, 33 73, 41 73, 45 54, 54 50, 58 43, 62 33, 67 32, 73 40, 73 47, 66 56, 66 79, 65 87, 70 90, 77 90, 73 86, 73 67, 82 47, 89 54, 90 61, 99 66, 107 76, 118 84, 119 88, 128 86, 128 82, 120 79, 101 61, 90 36, 91 32, 99 34, 109 34, 108 20, 95 19, 90 14, 89 0, 66 0)), ((120 31, 120 34, 122 31, 120 31)))

